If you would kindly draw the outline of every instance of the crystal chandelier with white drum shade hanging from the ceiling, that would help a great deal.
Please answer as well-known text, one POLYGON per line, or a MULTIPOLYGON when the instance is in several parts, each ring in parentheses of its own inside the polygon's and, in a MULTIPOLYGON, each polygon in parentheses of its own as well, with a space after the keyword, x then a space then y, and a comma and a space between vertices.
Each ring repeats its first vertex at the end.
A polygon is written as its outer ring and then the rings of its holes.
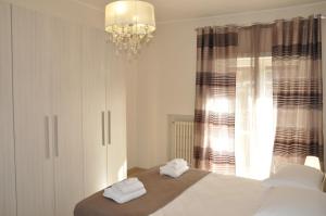
POLYGON ((105 7, 105 31, 118 50, 136 54, 154 30, 154 7, 148 2, 120 0, 105 7))

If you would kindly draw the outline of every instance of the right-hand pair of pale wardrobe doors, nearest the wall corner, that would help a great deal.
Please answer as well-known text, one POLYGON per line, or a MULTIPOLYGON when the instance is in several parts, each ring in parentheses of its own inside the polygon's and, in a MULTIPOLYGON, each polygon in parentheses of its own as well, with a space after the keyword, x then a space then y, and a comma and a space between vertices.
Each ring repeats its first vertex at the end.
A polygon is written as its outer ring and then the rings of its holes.
POLYGON ((122 73, 127 68, 114 48, 103 42, 108 38, 102 31, 84 27, 82 36, 85 193, 89 195, 127 175, 126 86, 122 73))

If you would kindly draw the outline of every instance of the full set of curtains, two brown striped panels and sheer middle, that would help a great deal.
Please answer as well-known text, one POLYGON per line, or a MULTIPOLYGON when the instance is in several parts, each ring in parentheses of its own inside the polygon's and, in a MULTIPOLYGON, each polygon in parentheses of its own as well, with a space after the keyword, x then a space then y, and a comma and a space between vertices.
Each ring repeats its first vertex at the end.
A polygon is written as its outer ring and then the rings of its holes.
POLYGON ((197 33, 195 166, 264 179, 314 155, 323 168, 321 18, 197 33))

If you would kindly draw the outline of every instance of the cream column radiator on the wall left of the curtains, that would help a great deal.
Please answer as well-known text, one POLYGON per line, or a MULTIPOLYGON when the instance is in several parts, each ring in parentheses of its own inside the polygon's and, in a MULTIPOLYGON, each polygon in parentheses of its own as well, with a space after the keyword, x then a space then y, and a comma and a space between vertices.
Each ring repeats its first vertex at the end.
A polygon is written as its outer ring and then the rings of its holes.
POLYGON ((193 122, 175 120, 172 123, 172 157, 184 158, 192 164, 193 122))

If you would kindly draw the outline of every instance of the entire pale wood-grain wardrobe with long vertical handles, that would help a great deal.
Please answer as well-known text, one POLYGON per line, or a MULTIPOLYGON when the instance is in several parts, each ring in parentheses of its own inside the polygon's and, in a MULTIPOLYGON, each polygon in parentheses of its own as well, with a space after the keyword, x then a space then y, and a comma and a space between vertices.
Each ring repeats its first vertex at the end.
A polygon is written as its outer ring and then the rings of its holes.
POLYGON ((0 215, 72 216, 126 177, 122 62, 102 30, 0 5, 0 215))

